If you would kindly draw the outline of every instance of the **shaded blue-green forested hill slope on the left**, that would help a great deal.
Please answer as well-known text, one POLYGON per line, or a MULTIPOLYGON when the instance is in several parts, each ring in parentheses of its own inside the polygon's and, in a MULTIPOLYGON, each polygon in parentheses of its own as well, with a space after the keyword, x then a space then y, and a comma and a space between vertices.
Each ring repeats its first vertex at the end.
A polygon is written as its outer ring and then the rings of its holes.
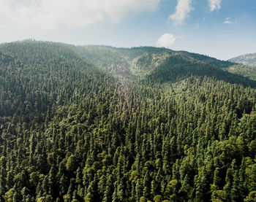
POLYGON ((108 78, 66 44, 26 41, 1 46, 0 75, 0 118, 23 114, 28 123, 53 117, 108 78))

